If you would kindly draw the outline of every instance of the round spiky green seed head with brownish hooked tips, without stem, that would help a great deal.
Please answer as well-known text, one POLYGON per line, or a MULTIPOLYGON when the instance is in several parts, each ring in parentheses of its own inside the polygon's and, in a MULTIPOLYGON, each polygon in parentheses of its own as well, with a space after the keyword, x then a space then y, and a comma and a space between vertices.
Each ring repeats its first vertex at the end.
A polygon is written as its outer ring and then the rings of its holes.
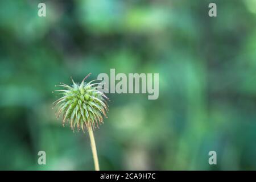
POLYGON ((56 117, 59 118, 62 115, 63 126, 68 121, 73 131, 75 127, 78 130, 81 128, 82 131, 84 129, 98 128, 103 123, 102 114, 106 117, 106 112, 108 111, 106 100, 109 100, 109 98, 97 90, 101 84, 93 83, 96 80, 85 82, 88 76, 82 80, 81 84, 75 83, 71 78, 72 86, 63 83, 55 85, 64 88, 55 90, 55 92, 60 92, 63 96, 53 102, 53 107, 59 105, 56 110, 56 117))

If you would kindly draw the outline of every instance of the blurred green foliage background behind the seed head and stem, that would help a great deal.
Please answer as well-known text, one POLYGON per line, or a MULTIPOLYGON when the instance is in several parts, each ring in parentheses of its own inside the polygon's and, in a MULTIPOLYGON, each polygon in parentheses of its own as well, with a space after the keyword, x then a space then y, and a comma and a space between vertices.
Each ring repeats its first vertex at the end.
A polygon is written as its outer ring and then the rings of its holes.
POLYGON ((108 94, 102 170, 256 169, 255 0, 0 1, 0 169, 93 170, 88 135, 62 127, 52 90, 110 68, 159 73, 159 98, 108 94))

